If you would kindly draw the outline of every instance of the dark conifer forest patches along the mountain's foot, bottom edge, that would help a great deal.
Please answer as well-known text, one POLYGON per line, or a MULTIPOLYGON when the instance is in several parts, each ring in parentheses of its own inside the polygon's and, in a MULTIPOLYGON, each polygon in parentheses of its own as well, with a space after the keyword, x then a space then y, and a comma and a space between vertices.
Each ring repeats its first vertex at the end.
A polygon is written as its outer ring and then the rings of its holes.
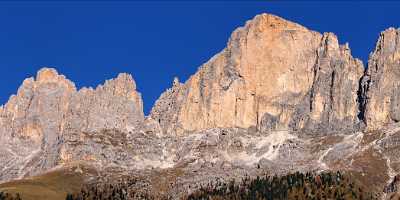
MULTIPOLYGON (((134 181, 92 185, 77 194, 68 194, 66 200, 155 199, 151 194, 131 191, 129 186, 134 181)), ((280 177, 265 175, 245 177, 240 181, 214 181, 183 196, 183 200, 376 199, 374 194, 356 184, 350 175, 339 171, 319 174, 296 172, 280 177)))

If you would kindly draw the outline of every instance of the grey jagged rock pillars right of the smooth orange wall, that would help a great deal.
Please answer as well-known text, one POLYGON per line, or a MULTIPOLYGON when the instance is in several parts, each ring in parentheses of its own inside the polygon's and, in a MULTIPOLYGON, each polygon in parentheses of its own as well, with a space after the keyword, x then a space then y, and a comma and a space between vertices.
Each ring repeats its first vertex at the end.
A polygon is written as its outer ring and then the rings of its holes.
POLYGON ((291 128, 314 132, 357 130, 362 62, 351 56, 348 44, 339 45, 335 35, 325 33, 313 71, 312 87, 305 102, 296 106, 291 128))

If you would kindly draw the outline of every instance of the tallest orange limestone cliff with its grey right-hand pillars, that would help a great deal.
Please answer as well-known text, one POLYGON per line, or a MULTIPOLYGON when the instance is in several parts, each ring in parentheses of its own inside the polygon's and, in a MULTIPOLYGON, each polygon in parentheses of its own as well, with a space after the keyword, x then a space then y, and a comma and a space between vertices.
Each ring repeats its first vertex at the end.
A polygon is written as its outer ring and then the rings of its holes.
POLYGON ((178 134, 213 127, 352 128, 362 74, 362 63, 335 35, 262 14, 235 30, 186 83, 162 94, 151 117, 178 134))

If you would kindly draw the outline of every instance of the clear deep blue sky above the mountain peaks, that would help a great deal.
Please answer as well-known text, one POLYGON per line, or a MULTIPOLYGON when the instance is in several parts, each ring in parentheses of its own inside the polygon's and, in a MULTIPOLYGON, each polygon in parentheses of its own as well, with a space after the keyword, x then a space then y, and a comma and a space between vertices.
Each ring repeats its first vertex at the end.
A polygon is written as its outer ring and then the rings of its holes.
POLYGON ((174 76, 185 81, 263 12, 334 32, 364 62, 380 31, 400 26, 394 1, 0 3, 0 104, 52 66, 79 88, 131 73, 147 113, 174 76))

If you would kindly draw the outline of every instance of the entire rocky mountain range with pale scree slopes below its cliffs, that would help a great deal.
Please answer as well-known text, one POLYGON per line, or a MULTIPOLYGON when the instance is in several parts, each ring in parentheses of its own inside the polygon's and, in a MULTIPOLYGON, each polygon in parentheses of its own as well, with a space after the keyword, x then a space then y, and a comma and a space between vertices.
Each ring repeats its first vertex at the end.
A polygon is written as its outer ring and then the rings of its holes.
POLYGON ((43 68, 0 108, 0 190, 67 171, 135 177, 176 199, 215 179, 340 170, 389 199, 400 193, 399 33, 381 33, 365 68, 333 33, 261 14, 149 116, 131 75, 77 90, 43 68))

